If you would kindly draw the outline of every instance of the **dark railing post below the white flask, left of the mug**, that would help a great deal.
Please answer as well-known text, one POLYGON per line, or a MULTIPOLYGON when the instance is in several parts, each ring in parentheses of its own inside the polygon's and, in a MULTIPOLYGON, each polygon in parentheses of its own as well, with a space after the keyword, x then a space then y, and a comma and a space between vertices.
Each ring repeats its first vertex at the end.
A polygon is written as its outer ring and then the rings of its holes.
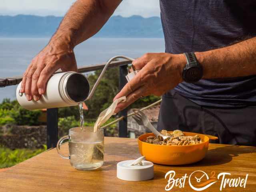
POLYGON ((58 108, 47 109, 47 148, 58 142, 58 108))

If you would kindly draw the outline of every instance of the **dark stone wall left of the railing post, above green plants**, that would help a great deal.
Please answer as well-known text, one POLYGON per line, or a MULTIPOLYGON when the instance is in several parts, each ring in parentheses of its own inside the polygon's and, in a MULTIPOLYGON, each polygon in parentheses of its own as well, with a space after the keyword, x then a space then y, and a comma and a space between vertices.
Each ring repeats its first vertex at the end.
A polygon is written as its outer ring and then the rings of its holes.
POLYGON ((0 145, 11 149, 42 148, 46 137, 46 126, 0 126, 0 145))

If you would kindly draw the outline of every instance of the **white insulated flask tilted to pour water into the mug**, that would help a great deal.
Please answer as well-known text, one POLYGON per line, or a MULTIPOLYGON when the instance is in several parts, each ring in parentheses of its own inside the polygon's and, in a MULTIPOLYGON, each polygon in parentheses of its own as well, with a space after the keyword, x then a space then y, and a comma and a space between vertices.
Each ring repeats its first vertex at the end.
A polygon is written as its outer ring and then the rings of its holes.
POLYGON ((20 93, 21 82, 16 90, 19 104, 28 110, 59 108, 78 105, 89 94, 90 86, 86 77, 77 72, 54 74, 46 85, 46 92, 38 101, 28 101, 25 93, 20 93))

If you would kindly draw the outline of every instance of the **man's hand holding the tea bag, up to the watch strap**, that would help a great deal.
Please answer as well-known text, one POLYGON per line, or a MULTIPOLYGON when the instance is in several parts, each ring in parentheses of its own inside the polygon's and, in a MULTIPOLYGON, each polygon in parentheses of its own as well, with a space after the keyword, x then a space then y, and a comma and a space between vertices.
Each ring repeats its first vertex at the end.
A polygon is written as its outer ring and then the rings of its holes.
POLYGON ((161 96, 182 82, 182 70, 186 65, 184 54, 147 53, 132 62, 138 74, 115 96, 126 96, 126 102, 118 104, 115 112, 123 110, 141 96, 161 96))

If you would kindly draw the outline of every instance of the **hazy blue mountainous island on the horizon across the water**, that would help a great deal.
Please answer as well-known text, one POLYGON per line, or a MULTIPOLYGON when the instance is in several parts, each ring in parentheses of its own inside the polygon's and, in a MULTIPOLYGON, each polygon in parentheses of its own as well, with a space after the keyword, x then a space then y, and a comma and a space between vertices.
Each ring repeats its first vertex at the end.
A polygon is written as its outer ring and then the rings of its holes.
MULTIPOLYGON (((56 16, 0 16, 0 37, 49 37, 62 17, 56 16)), ((94 37, 98 38, 162 38, 159 17, 112 16, 94 37)))

